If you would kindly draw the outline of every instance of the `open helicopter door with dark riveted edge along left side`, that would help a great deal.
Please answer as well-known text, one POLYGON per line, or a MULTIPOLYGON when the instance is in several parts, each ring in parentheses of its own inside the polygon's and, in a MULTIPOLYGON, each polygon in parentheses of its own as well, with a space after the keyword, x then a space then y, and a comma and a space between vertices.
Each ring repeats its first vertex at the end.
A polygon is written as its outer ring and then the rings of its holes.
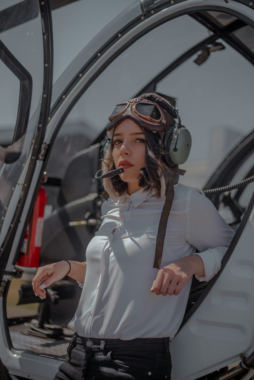
POLYGON ((9 280, 18 272, 6 272, 6 263, 16 237, 23 233, 22 210, 33 173, 41 166, 52 87, 50 25, 46 0, 0 2, 0 357, 8 368, 16 355, 5 334, 3 305, 9 280))

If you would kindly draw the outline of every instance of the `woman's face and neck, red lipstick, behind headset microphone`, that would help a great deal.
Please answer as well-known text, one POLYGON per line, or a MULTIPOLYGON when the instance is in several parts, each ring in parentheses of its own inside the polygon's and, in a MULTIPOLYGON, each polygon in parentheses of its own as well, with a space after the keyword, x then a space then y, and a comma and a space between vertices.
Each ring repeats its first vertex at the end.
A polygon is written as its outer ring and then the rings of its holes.
POLYGON ((114 164, 116 169, 124 169, 119 176, 127 182, 127 193, 131 195, 140 189, 138 176, 140 169, 146 166, 144 133, 132 119, 124 119, 114 130, 113 144, 114 164))

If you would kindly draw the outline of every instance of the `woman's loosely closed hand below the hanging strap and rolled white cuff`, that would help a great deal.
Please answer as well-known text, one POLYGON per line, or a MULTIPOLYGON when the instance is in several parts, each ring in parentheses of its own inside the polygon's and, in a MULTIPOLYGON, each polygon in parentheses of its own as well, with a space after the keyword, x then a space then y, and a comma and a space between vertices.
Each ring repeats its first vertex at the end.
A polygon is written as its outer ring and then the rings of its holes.
POLYGON ((183 257, 159 270, 152 283, 151 292, 163 296, 178 296, 194 274, 205 275, 202 258, 198 255, 183 257))

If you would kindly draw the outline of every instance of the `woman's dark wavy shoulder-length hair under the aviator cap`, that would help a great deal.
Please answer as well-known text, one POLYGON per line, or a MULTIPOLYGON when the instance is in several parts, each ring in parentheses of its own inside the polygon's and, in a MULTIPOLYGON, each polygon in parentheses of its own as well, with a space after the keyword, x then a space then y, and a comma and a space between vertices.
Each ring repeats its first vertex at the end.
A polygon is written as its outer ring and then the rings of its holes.
MULTIPOLYGON (((163 170, 165 169, 165 163, 160 160, 163 154, 160 149, 160 135, 159 133, 154 133, 146 128, 140 127, 145 135, 146 144, 146 166, 140 169, 140 175, 138 176, 138 185, 148 193, 152 193, 155 190, 157 198, 160 198, 160 178, 162 176, 163 170)), ((108 147, 110 155, 108 158, 103 158, 102 161, 107 166, 108 170, 116 169, 113 160, 113 140, 111 139, 110 145, 108 147)), ((111 183, 114 190, 122 195, 127 190, 127 182, 124 182, 119 175, 111 178, 111 183)))

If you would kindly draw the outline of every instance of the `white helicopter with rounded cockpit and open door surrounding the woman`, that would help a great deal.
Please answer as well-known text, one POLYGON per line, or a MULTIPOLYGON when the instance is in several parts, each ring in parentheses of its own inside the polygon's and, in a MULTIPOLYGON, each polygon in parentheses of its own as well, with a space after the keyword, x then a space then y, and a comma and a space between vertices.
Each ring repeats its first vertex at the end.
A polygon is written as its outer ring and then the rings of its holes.
POLYGON ((65 360, 81 288, 63 279, 38 300, 31 280, 38 266, 86 260, 109 112, 146 92, 179 105, 194 154, 180 180, 235 230, 220 271, 193 280, 171 377, 252 378, 254 3, 2 0, 0 63, 0 379, 52 379, 65 360), (211 139, 213 160, 199 162, 211 139))

